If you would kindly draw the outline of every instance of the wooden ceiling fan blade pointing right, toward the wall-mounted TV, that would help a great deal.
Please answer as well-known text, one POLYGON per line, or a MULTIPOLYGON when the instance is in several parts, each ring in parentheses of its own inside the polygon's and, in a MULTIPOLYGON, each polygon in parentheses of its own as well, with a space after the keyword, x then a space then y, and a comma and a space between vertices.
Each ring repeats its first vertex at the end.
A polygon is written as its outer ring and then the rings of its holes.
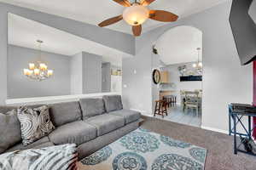
POLYGON ((158 20, 161 22, 172 22, 176 21, 178 16, 164 10, 150 10, 149 18, 152 20, 158 20))

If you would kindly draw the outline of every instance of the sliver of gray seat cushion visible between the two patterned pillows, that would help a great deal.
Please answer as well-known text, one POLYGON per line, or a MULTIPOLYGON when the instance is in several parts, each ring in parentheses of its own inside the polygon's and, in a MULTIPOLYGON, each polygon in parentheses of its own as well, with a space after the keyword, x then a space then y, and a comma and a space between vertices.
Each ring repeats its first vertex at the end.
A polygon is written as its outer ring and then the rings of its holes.
POLYGON ((42 139, 37 140, 36 142, 28 145, 23 145, 22 143, 20 144, 15 144, 13 147, 9 148, 9 150, 6 150, 6 152, 9 151, 15 151, 15 150, 28 150, 31 148, 43 148, 44 146, 50 146, 54 145, 53 143, 49 142, 49 138, 45 136, 42 139))

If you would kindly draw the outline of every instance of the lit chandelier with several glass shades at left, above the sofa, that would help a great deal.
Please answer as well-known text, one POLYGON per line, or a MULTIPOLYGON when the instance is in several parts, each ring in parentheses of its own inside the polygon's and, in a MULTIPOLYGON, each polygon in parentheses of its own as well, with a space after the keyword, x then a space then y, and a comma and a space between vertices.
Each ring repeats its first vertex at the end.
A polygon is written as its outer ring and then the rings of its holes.
POLYGON ((40 61, 42 57, 42 50, 41 50, 41 45, 43 41, 38 40, 38 48, 39 48, 39 59, 36 62, 29 63, 28 64, 28 69, 23 70, 23 74, 32 79, 32 80, 37 80, 37 81, 43 81, 53 75, 53 70, 48 70, 48 66, 40 61))

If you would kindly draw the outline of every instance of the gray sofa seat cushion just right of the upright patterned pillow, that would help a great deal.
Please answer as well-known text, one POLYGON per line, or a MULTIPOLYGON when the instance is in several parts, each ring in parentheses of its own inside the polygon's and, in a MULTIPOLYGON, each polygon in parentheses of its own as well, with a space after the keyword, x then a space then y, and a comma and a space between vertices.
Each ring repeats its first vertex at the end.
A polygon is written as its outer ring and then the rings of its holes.
POLYGON ((70 122, 49 133, 49 140, 54 144, 83 144, 95 139, 96 133, 96 127, 86 122, 70 122))

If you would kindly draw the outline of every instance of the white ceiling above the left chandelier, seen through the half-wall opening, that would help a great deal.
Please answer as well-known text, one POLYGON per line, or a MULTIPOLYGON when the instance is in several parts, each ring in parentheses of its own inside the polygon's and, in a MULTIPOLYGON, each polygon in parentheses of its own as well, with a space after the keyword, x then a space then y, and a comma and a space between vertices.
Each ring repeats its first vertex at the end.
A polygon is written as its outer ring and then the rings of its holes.
POLYGON ((119 50, 91 42, 65 31, 45 26, 33 20, 27 20, 15 14, 9 14, 9 44, 25 48, 38 49, 38 39, 43 40, 42 50, 63 55, 78 54, 82 51, 98 54, 104 62, 122 65, 123 57, 131 57, 119 50))

